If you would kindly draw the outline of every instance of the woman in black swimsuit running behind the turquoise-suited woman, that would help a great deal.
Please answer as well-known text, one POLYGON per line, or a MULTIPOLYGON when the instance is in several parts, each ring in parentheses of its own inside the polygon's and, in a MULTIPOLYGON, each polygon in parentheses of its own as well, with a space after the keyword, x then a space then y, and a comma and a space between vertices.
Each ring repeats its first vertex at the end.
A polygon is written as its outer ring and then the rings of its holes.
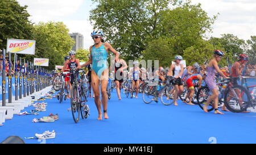
POLYGON ((127 68, 127 64, 123 59, 119 59, 118 61, 113 61, 112 62, 115 66, 115 85, 117 86, 117 96, 118 100, 121 100, 121 88, 122 88, 122 83, 123 83, 123 70, 127 68))

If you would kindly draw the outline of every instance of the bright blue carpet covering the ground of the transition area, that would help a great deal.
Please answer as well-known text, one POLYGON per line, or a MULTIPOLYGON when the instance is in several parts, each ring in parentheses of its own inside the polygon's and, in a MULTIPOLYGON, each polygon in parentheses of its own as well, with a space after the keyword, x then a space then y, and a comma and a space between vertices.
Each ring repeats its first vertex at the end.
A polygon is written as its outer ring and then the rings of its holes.
MULTIPOLYGON (((250 81, 254 84, 254 81, 250 81)), ((178 102, 179 106, 164 106, 160 102, 144 104, 139 98, 117 100, 112 93, 108 102, 108 120, 97 120, 94 100, 89 98, 90 116, 75 123, 68 112, 69 100, 59 104, 56 98, 46 100, 47 111, 40 115, 14 115, 0 127, 0 141, 7 136, 20 136, 26 143, 39 144, 37 139, 24 139, 55 130, 52 143, 210 143, 214 137, 217 143, 256 143, 256 113, 230 113, 215 115, 204 113, 199 106, 178 102), (59 120, 52 123, 32 123, 49 113, 59 114, 59 120)), ((25 110, 34 109, 28 107, 25 110)))

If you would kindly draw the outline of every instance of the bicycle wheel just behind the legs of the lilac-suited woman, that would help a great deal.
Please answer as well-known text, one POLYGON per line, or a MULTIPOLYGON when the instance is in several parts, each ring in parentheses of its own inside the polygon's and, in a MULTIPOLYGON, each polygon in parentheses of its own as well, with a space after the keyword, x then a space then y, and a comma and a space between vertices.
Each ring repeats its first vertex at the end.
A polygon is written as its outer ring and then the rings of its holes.
MULTIPOLYGON (((207 103, 210 97, 210 90, 207 86, 201 87, 197 92, 197 104, 200 106, 201 109, 204 110, 204 105, 207 103)), ((214 109, 213 102, 208 105, 207 110, 212 111, 214 109)))

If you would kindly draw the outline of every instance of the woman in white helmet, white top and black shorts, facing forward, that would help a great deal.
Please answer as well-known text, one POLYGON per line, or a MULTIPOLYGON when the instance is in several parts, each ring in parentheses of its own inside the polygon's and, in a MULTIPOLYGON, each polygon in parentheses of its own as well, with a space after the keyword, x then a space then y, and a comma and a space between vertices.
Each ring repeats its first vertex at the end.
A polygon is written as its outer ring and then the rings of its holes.
POLYGON ((175 64, 171 64, 170 69, 167 72, 167 76, 172 76, 176 79, 174 83, 175 92, 174 92, 174 105, 177 106, 177 96, 179 96, 184 88, 181 80, 181 75, 183 74, 183 64, 180 64, 180 61, 183 58, 180 55, 175 56, 175 64))

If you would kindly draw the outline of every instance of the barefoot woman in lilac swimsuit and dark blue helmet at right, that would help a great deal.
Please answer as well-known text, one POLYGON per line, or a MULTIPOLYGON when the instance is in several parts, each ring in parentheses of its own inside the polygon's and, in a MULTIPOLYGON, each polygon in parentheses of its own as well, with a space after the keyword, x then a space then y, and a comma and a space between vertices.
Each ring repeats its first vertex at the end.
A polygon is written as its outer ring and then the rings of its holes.
POLYGON ((214 102, 214 114, 223 114, 220 111, 218 111, 218 87, 215 82, 215 75, 217 72, 226 78, 226 76, 221 72, 220 68, 218 68, 218 62, 221 61, 221 58, 224 57, 224 53, 221 50, 215 50, 213 58, 210 60, 208 66, 207 66, 207 76, 205 78, 205 84, 208 85, 209 90, 213 93, 210 97, 207 103, 204 105, 204 111, 208 113, 207 107, 210 104, 210 102, 214 102))

